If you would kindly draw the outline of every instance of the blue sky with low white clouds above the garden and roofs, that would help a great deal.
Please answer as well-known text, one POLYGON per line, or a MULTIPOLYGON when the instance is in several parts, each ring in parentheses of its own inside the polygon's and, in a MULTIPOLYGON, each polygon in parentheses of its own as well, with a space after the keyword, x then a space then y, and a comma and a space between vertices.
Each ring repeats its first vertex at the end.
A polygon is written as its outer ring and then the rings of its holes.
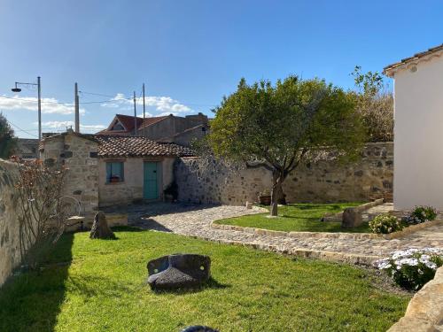
POLYGON ((241 77, 295 73, 351 89, 355 65, 381 71, 442 43, 442 17, 440 0, 0 0, 0 111, 20 137, 37 135, 36 91, 11 88, 38 75, 43 132, 74 120, 72 104, 58 103, 73 103, 75 81, 104 95, 80 96, 94 102, 81 104, 88 133, 131 114, 124 98, 143 82, 154 116, 211 114, 241 77))

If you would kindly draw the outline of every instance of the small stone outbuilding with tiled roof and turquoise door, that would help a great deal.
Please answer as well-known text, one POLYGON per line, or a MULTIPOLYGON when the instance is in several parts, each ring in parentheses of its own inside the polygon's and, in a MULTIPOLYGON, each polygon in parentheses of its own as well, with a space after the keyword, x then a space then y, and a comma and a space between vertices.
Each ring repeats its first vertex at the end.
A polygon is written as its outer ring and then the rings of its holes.
POLYGON ((45 165, 66 166, 66 196, 81 202, 83 213, 162 200, 164 189, 174 180, 175 158, 192 156, 188 148, 174 143, 73 130, 44 138, 40 152, 45 165))

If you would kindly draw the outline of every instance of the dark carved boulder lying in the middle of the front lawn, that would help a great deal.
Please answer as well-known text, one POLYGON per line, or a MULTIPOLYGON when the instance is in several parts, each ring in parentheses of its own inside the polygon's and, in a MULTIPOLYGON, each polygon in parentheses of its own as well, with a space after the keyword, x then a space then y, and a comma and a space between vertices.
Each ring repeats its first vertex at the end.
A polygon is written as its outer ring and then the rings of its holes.
POLYGON ((211 259, 205 255, 173 254, 148 263, 152 290, 196 288, 211 276, 211 259))

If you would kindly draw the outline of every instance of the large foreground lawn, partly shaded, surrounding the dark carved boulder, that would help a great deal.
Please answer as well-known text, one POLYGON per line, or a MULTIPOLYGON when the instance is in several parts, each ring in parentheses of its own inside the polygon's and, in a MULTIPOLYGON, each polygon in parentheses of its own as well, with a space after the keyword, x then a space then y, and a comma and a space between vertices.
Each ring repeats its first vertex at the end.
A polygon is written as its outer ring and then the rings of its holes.
MULTIPOLYGON (((121 229, 121 228, 120 228, 121 229)), ((380 289, 354 266, 123 228, 117 240, 64 235, 39 273, 0 290, 0 331, 382 331, 410 296, 380 289), (146 263, 174 252, 212 259, 214 280, 189 293, 154 293, 146 263)))

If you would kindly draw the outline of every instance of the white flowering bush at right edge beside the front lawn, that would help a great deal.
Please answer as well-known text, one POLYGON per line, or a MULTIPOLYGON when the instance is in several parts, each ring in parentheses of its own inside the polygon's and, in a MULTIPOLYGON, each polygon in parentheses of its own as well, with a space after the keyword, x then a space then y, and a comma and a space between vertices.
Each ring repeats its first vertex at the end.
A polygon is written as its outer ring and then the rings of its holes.
POLYGON ((394 282, 408 290, 420 290, 431 281, 435 271, 443 265, 443 249, 424 248, 394 251, 388 259, 374 265, 389 274, 394 282))

